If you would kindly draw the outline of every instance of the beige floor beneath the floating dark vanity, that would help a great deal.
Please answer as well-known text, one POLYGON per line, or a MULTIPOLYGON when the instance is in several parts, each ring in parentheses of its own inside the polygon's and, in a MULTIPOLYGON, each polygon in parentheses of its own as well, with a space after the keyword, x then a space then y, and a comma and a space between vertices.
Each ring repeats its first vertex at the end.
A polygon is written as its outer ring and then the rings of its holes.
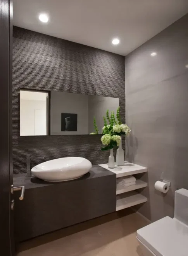
POLYGON ((143 256, 136 230, 148 224, 125 209, 22 242, 17 256, 143 256))

